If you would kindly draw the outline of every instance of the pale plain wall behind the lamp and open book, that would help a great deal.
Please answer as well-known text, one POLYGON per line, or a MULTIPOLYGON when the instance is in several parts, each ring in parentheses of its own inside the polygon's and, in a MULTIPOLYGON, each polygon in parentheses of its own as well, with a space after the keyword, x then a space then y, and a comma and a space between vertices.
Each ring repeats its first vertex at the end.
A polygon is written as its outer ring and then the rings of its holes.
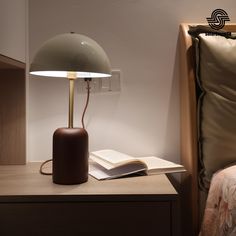
MULTIPOLYGON (((94 94, 86 116, 90 150, 114 148, 131 155, 179 161, 178 27, 203 22, 216 8, 236 21, 236 2, 211 0, 31 0, 30 59, 48 38, 75 31, 95 39, 113 69, 122 71, 122 91, 94 94)), ((51 157, 52 133, 67 125, 63 79, 31 78, 28 159, 51 157)), ((76 96, 81 115, 84 95, 76 96)))

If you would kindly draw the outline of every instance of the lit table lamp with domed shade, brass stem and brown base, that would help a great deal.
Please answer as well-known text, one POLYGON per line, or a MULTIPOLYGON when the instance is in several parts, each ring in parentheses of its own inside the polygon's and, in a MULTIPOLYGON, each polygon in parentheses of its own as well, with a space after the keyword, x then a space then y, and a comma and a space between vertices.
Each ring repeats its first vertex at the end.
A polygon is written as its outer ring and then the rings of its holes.
POLYGON ((74 81, 111 76, 104 50, 87 36, 66 33, 46 41, 30 65, 30 74, 69 80, 68 127, 53 134, 52 179, 56 184, 81 184, 88 180, 88 133, 74 128, 74 81))

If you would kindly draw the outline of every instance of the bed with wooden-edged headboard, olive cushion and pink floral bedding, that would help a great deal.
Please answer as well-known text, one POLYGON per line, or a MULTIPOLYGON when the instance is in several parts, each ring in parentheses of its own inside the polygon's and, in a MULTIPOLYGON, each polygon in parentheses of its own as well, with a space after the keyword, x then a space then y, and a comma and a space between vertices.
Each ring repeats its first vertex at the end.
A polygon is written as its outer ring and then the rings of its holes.
POLYGON ((183 235, 236 235, 236 40, 211 29, 191 37, 196 25, 181 24, 179 34, 183 235))

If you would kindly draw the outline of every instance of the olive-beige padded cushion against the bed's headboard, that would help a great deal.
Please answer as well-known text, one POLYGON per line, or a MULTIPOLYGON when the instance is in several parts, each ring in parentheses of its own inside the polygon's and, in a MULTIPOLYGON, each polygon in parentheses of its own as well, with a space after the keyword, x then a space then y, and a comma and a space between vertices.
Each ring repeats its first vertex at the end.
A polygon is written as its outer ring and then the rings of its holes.
POLYGON ((196 40, 200 186, 236 162, 236 40, 199 34, 196 40))

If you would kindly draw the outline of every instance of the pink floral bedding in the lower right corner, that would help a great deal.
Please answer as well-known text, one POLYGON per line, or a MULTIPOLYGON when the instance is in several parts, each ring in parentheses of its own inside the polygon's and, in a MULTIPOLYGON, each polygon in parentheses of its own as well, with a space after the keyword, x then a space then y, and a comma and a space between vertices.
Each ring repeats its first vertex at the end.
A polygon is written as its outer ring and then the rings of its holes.
POLYGON ((236 235, 236 165, 213 175, 199 236, 236 235))

